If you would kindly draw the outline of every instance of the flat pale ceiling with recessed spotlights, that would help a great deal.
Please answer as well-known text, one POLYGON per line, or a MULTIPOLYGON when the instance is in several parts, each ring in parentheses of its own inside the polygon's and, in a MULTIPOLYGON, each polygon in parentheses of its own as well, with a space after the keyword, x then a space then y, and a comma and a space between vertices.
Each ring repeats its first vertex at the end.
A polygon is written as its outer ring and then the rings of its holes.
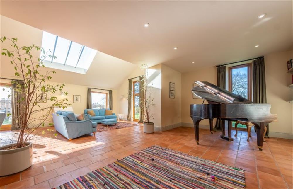
POLYGON ((127 62, 180 72, 288 50, 293 42, 293 1, 1 0, 0 6, 4 16, 127 62))

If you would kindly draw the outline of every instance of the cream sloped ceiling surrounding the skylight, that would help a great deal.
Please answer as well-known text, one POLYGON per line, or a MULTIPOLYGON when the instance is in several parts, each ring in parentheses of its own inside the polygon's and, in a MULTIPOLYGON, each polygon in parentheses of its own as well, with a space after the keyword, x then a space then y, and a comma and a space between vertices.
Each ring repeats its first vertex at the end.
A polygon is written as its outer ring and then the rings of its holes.
MULTIPOLYGON (((0 16, 0 23, 0 36, 6 36, 8 38, 17 37, 18 46, 32 44, 41 46, 42 30, 5 16, 0 16)), ((5 42, 1 44, 1 48, 9 48, 9 43, 5 42)), ((40 53, 34 56, 40 57, 40 53)), ((117 89, 119 88, 119 84, 127 79, 127 76, 135 67, 137 65, 98 51, 86 74, 51 68, 46 68, 46 71, 55 70, 57 72, 57 74, 52 75, 52 81, 55 82, 117 89)), ((2 55, 0 56, 0 76, 8 78, 14 76, 14 69, 10 64, 10 59, 2 55)))

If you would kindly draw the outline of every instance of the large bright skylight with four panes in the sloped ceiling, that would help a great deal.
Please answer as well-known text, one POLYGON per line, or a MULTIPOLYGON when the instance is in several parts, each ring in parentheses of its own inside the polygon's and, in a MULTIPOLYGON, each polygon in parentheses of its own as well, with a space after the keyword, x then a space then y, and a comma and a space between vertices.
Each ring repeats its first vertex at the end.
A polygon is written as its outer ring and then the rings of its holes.
MULTIPOLYGON (((46 67, 86 74, 97 51, 69 41, 57 35, 43 31, 42 47, 45 52, 56 56, 47 57, 43 62, 46 67)), ((42 56, 42 54, 41 54, 42 56)))

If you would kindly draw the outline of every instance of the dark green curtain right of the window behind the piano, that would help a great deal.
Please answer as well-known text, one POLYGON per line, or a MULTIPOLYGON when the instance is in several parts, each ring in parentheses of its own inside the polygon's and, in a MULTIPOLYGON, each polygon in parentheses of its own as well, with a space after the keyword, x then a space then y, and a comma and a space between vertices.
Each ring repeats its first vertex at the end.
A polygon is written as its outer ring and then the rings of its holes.
MULTIPOLYGON (((267 103, 267 92, 265 88, 265 59, 259 58, 252 61, 252 87, 253 103, 267 103)), ((269 125, 265 137, 269 135, 269 125)))

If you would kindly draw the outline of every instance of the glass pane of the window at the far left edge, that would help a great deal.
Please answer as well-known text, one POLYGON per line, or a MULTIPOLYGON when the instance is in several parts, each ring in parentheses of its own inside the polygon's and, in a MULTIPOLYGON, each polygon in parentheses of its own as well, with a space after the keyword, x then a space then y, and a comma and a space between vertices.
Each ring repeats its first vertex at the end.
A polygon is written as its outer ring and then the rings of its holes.
MULTIPOLYGON (((8 98, 8 95, 11 93, 11 88, 0 86, 0 111, 1 112, 10 112, 11 113, 11 96, 8 98), (4 91, 3 91, 4 89, 4 91)), ((11 124, 11 116, 5 117, 2 125, 11 124)))

